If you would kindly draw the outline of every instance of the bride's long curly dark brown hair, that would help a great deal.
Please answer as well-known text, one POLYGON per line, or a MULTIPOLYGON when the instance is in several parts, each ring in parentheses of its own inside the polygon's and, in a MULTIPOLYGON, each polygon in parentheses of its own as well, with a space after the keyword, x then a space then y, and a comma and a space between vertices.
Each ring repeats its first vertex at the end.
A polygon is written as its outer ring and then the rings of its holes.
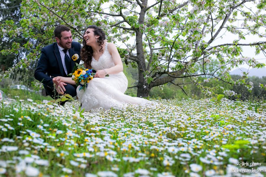
MULTIPOLYGON (((97 27, 96 25, 90 25, 86 28, 86 30, 88 28, 94 29, 93 30, 94 35, 99 36, 97 39, 97 44, 101 47, 101 49, 99 51, 103 52, 103 47, 101 46, 101 45, 103 45, 104 40, 105 40, 105 34, 104 34, 103 30, 101 28, 97 27)), ((85 32, 86 32, 86 30, 85 30, 85 32)), ((85 32, 84 32, 83 36, 85 35, 85 32)), ((81 52, 80 52, 81 60, 84 61, 84 65, 87 68, 91 69, 91 60, 92 60, 92 56, 93 56, 92 47, 86 44, 85 39, 83 39, 82 44, 83 44, 83 47, 82 47, 81 52)))

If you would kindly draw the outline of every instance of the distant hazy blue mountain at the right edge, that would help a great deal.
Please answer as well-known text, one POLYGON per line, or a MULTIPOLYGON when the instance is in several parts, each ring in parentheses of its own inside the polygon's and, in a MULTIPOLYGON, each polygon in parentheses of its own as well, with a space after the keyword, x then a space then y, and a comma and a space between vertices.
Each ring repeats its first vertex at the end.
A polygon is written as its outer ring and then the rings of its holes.
POLYGON ((243 76, 243 72, 248 72, 248 76, 262 77, 266 76, 266 68, 251 68, 249 71, 246 68, 237 68, 231 71, 230 75, 240 75, 243 76))

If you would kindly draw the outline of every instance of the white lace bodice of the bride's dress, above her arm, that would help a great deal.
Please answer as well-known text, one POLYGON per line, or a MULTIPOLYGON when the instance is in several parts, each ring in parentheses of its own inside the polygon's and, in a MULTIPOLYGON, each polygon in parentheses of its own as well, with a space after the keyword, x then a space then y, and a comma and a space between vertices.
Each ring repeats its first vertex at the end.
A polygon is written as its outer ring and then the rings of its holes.
POLYGON ((115 64, 113 63, 113 58, 111 54, 108 52, 107 46, 108 43, 106 42, 103 54, 100 56, 98 61, 96 61, 95 58, 92 57, 91 67, 96 71, 115 66, 115 64))

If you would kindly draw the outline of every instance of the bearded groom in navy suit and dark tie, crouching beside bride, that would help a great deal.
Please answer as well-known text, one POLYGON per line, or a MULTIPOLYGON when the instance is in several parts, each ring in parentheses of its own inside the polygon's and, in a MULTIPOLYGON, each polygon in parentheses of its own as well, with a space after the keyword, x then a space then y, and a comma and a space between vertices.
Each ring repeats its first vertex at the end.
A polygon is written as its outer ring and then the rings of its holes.
MULTIPOLYGON (((70 94, 76 96, 76 86, 69 83, 60 82, 55 88, 53 86, 53 77, 64 76, 72 72, 76 63, 80 63, 80 57, 75 60, 74 54, 80 56, 81 45, 78 42, 72 42, 70 28, 59 25, 54 30, 56 42, 43 47, 38 61, 34 77, 43 83, 46 94, 53 99, 57 99, 59 94, 70 94), (75 60, 75 61, 74 61, 75 60)), ((64 105, 61 102, 61 105, 64 105)))

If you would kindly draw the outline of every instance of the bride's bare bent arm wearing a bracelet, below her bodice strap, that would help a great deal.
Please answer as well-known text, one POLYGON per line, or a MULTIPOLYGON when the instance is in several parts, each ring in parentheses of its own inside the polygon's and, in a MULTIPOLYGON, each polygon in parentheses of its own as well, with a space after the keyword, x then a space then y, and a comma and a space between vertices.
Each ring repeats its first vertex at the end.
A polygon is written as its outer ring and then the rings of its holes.
POLYGON ((117 74, 123 71, 123 63, 116 46, 112 42, 110 42, 108 43, 107 47, 108 47, 108 52, 112 55, 113 63, 115 64, 115 66, 113 66, 112 68, 105 69, 106 72, 104 70, 98 70, 94 77, 104 77, 106 73, 117 74))

